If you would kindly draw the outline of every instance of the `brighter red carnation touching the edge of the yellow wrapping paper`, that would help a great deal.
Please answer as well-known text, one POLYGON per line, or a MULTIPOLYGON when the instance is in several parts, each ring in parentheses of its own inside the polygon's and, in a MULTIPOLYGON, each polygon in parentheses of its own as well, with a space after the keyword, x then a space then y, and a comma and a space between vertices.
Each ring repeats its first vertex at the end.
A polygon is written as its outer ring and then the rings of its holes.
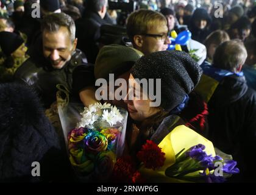
POLYGON ((165 162, 165 153, 151 140, 147 140, 147 143, 142 146, 137 157, 144 163, 146 168, 153 170, 160 168, 165 162))

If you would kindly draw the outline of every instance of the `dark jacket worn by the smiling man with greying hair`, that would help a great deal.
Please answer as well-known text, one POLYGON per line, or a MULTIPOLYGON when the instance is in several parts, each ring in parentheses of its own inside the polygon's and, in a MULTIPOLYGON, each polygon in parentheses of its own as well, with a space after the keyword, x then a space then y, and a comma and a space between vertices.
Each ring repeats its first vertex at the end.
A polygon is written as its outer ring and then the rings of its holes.
POLYGON ((62 69, 53 69, 45 59, 38 62, 35 58, 29 58, 17 69, 15 80, 34 87, 44 106, 49 107, 56 100, 56 85, 63 84, 71 91, 73 69, 85 62, 85 56, 79 49, 76 49, 71 60, 62 69))

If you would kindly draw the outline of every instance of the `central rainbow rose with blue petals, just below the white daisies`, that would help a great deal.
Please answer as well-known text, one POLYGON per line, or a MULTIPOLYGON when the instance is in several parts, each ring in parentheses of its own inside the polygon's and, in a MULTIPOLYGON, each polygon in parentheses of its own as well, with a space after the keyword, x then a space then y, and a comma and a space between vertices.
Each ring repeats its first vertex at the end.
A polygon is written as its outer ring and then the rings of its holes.
POLYGON ((107 149, 107 138, 98 131, 91 131, 84 138, 85 151, 98 154, 107 149))

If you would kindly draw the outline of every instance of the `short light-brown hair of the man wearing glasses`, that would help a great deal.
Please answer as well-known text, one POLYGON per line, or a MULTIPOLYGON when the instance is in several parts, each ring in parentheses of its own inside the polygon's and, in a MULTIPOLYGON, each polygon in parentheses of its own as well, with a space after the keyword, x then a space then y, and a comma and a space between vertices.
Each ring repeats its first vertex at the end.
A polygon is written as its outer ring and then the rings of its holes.
POLYGON ((167 25, 162 13, 141 9, 131 13, 127 19, 127 35, 133 41, 134 35, 146 34, 156 21, 163 21, 167 25))

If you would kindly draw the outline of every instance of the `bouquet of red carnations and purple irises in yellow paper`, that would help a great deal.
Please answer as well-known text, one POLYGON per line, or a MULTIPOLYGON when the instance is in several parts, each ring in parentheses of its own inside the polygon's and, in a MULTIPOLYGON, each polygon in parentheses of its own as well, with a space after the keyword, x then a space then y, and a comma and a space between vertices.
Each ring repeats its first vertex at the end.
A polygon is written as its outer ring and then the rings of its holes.
POLYGON ((114 167, 113 179, 122 182, 219 183, 239 173, 236 161, 224 160, 215 155, 210 141, 185 126, 176 127, 158 146, 154 141, 147 140, 137 153, 137 158, 140 161, 139 167, 130 157, 119 158, 114 167), (172 140, 183 137, 183 133, 196 141, 172 140), (205 145, 193 145, 197 141, 205 145), (183 149, 176 152, 181 147, 183 149))

